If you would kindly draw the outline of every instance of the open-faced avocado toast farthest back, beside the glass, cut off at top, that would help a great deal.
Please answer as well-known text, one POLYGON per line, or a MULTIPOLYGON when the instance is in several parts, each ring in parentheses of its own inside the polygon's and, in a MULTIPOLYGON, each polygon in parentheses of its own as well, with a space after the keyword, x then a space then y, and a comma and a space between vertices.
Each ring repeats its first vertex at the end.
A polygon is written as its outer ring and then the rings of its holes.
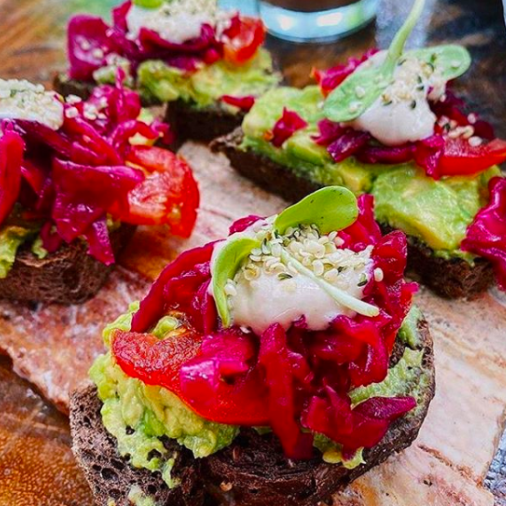
POLYGON ((145 105, 170 103, 180 140, 208 141, 239 126, 255 97, 280 80, 262 48, 262 22, 218 10, 216 0, 133 0, 112 18, 70 20, 70 66, 55 81, 62 95, 86 97, 121 67, 145 105))

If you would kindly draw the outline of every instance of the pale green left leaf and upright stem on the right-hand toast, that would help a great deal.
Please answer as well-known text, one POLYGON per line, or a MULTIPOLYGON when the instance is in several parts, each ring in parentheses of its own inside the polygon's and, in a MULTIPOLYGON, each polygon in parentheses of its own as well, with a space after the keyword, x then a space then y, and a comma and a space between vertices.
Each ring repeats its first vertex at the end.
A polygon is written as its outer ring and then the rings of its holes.
POLYGON ((332 91, 323 105, 323 111, 328 119, 336 122, 352 121, 361 116, 381 96, 393 80, 394 70, 402 56, 406 40, 418 21, 424 5, 425 0, 415 0, 408 18, 395 35, 382 65, 356 70, 332 91), (357 88, 362 90, 363 97, 360 100, 357 100, 357 88))

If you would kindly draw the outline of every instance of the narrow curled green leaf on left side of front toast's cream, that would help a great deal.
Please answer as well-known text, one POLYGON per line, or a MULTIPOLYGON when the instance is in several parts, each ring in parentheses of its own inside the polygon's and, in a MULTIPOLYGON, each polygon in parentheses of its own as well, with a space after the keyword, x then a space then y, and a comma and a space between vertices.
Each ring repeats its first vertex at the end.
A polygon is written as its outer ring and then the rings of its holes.
POLYGON ((229 327, 231 324, 225 285, 229 279, 233 279, 236 275, 251 250, 260 246, 261 243, 256 239, 237 237, 223 246, 215 260, 213 266, 213 293, 218 314, 224 327, 229 327))

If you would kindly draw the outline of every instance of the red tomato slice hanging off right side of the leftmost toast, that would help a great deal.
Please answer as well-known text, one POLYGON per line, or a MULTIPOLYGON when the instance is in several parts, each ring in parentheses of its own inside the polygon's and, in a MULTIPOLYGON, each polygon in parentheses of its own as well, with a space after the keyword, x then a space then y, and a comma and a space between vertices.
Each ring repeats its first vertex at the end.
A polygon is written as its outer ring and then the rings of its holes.
POLYGON ((115 218, 133 225, 169 225, 175 235, 188 237, 200 201, 197 183, 186 161, 165 149, 133 146, 127 161, 141 167, 146 179, 129 193, 125 209, 115 218))

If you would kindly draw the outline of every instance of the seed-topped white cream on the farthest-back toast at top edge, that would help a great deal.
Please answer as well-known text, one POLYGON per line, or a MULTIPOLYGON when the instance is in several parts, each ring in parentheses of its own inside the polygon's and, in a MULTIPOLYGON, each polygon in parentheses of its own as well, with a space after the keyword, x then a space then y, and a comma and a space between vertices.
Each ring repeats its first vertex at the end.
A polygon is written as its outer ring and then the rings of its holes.
POLYGON ((200 35, 203 24, 215 26, 218 11, 213 0, 173 0, 157 9, 132 6, 126 17, 129 37, 142 28, 157 32, 165 40, 182 44, 200 35))

